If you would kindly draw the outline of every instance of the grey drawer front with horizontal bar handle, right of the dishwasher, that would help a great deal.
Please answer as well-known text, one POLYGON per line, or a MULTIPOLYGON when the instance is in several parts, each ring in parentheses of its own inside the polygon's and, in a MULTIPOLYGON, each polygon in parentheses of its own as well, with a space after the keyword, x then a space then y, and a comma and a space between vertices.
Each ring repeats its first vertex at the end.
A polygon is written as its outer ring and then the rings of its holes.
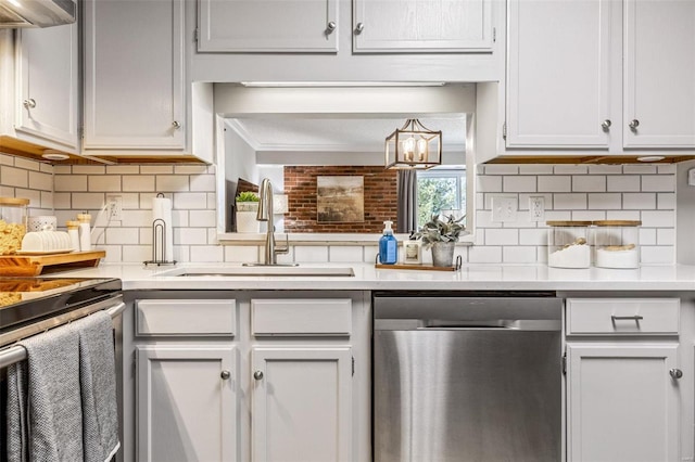
POLYGON ((569 298, 567 333, 678 335, 678 298, 569 298))

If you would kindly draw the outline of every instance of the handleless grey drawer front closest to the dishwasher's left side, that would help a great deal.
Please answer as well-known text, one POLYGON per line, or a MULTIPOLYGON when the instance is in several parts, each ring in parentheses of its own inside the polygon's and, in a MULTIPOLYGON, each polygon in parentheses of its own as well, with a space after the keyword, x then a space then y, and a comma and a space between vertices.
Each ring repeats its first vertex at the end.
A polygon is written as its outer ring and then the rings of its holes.
POLYGON ((352 300, 253 299, 251 329, 256 336, 350 336, 352 300))

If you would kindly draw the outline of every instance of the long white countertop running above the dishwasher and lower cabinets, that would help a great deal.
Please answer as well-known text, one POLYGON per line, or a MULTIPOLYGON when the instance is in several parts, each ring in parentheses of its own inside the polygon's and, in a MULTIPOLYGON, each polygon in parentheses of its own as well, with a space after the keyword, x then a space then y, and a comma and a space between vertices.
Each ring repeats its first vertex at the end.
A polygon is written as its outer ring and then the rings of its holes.
MULTIPOLYGON (((433 291, 693 291, 695 266, 640 269, 559 269, 545 265, 466 264, 458 271, 376 269, 369 264, 305 264, 303 268, 351 267, 354 277, 162 275, 173 268, 240 268, 239 264, 179 264, 149 267, 101 264, 61 277, 118 278, 124 290, 433 290, 433 291)), ((56 275, 56 274, 50 274, 56 275)))

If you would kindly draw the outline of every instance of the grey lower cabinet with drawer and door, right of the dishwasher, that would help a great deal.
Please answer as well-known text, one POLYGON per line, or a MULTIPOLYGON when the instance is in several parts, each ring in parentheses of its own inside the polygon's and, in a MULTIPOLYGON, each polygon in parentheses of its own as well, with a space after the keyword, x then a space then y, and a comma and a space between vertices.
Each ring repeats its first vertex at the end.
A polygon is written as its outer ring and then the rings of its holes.
POLYGON ((568 462, 681 461, 680 312, 678 298, 567 300, 568 462))

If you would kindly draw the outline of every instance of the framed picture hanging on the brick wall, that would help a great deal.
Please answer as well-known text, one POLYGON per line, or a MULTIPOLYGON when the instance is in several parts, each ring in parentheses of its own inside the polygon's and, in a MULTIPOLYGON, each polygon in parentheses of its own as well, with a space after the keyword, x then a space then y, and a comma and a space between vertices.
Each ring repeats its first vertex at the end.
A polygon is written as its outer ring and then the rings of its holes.
POLYGON ((316 177, 316 215, 319 223, 364 221, 364 177, 316 177))

